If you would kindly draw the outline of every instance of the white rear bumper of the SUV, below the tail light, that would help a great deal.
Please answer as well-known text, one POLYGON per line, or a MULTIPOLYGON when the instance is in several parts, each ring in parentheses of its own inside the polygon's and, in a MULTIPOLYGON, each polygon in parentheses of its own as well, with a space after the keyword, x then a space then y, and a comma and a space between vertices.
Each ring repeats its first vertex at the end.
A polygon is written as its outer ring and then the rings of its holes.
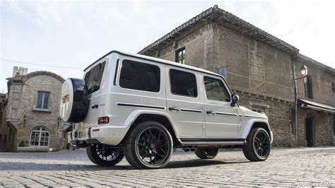
POLYGON ((88 129, 76 129, 68 133, 68 140, 78 147, 88 144, 107 144, 117 146, 126 136, 129 127, 125 126, 96 126, 88 129))

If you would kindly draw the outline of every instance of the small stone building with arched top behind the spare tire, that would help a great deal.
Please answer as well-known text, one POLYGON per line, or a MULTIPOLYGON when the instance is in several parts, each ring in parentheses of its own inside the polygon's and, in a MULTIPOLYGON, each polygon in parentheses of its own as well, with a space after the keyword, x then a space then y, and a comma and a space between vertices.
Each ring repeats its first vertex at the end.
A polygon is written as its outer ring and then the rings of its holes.
MULTIPOLYGON (((59 96, 64 78, 48 71, 26 74, 14 67, 8 79, 1 134, 11 139, 10 151, 55 151, 66 146, 64 129, 70 125, 59 118, 59 96)), ((8 149, 2 148, 1 151, 8 149)))

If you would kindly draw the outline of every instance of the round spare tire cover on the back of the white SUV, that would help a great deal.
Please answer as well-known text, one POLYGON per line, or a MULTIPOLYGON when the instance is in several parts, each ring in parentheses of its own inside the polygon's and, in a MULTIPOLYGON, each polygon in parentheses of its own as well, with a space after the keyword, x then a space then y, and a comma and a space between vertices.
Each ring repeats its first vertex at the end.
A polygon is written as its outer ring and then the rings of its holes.
POLYGON ((68 78, 61 86, 59 114, 64 122, 81 122, 88 112, 88 91, 85 81, 68 78))

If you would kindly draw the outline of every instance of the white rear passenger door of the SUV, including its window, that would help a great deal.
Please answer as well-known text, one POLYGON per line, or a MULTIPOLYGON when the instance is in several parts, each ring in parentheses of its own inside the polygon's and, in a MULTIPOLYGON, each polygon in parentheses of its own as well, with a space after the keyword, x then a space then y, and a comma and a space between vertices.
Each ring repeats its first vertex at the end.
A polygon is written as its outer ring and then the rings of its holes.
POLYGON ((201 137, 204 132, 204 98, 196 71, 166 66, 167 112, 180 137, 201 137))

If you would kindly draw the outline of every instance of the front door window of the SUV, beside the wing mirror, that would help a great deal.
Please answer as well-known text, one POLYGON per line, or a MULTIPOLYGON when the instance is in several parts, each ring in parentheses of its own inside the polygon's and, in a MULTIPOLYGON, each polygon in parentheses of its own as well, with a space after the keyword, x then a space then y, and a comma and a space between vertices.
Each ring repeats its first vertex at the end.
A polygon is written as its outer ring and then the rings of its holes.
POLYGON ((204 76, 204 83, 208 100, 230 101, 228 91, 221 80, 204 76))

